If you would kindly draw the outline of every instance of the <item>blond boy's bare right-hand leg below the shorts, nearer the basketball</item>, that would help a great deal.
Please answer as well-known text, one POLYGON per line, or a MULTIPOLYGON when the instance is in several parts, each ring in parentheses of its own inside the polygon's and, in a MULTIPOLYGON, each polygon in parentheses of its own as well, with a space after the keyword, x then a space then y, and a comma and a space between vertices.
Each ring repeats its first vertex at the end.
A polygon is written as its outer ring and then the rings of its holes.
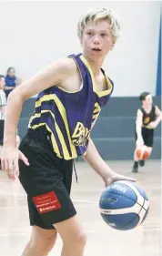
POLYGON ((61 256, 83 256, 86 245, 86 234, 75 217, 55 224, 63 240, 61 256))

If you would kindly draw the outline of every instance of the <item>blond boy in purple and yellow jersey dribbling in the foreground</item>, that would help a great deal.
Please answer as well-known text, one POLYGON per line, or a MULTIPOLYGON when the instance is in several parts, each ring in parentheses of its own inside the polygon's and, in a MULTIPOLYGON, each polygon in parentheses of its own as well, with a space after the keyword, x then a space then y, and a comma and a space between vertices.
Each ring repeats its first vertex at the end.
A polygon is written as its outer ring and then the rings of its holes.
POLYGON ((115 46, 119 28, 111 10, 87 13, 78 23, 83 53, 57 60, 8 97, 2 166, 9 179, 19 177, 33 226, 23 256, 46 256, 57 232, 63 240, 62 256, 83 256, 86 235, 69 197, 73 159, 83 156, 106 186, 129 179, 106 165, 90 138, 113 91, 113 82, 101 66, 115 46), (15 131, 21 108, 25 99, 37 93, 35 112, 19 151, 15 131))

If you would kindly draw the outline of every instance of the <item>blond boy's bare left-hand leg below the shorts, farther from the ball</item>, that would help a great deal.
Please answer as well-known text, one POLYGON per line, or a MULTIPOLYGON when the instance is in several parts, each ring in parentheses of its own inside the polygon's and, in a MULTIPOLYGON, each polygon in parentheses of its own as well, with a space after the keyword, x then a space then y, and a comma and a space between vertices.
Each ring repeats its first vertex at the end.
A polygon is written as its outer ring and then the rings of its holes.
POLYGON ((56 242, 56 230, 44 230, 33 227, 31 240, 25 247, 22 256, 46 256, 56 242))

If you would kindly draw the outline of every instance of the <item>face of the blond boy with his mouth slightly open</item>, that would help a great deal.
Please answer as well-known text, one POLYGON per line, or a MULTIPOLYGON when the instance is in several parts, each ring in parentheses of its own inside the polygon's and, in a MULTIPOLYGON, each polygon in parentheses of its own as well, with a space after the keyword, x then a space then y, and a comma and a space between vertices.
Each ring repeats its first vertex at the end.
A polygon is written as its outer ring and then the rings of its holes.
POLYGON ((83 53, 90 59, 97 61, 104 59, 115 44, 107 21, 97 23, 88 22, 81 38, 83 53))

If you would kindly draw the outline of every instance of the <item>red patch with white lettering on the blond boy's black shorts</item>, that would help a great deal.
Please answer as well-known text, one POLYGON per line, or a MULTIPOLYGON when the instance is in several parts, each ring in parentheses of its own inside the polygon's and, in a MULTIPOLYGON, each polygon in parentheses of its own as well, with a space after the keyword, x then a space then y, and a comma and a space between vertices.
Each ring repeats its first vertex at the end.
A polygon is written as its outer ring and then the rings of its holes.
POLYGON ((49 193, 33 197, 35 207, 39 213, 46 213, 48 211, 57 210, 61 208, 60 202, 56 197, 56 193, 51 191, 49 193))

